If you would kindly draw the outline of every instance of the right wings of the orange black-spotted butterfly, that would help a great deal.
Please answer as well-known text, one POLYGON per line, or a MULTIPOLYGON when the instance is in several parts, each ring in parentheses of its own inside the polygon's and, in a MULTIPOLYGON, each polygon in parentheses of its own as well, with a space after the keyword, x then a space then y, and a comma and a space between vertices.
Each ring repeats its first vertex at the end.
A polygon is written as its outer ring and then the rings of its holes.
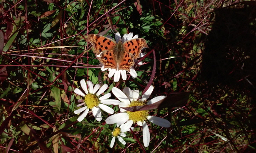
POLYGON ((148 45, 145 39, 135 38, 125 41, 123 43, 123 48, 125 53, 123 56, 123 60, 121 60, 119 63, 119 69, 130 72, 131 66, 135 64, 134 59, 139 58, 143 48, 148 48, 148 45))

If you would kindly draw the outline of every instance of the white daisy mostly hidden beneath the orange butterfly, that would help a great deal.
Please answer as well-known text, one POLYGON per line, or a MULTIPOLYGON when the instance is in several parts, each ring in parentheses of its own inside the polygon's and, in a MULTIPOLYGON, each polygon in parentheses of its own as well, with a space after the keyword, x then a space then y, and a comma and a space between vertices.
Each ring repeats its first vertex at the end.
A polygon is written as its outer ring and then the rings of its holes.
MULTIPOLYGON (((110 38, 110 39, 113 39, 111 36, 107 36, 107 37, 110 38)), ((138 38, 138 37, 139 36, 137 34, 133 37, 133 33, 131 32, 129 34, 124 34, 124 36, 121 39, 121 35, 119 34, 119 32, 117 32, 115 34, 116 43, 118 43, 119 41, 125 42, 127 40, 132 40, 132 39, 135 39, 135 38, 138 38)), ((143 57, 143 56, 145 56, 145 53, 140 53, 140 57, 143 57)), ((134 59, 134 62, 137 62, 137 59, 134 59)), ((139 62, 138 65, 142 65, 142 62, 139 62)), ((109 71, 108 77, 111 78, 114 75, 114 82, 118 82, 119 79, 120 79, 120 76, 122 76, 123 80, 127 79, 125 70, 116 70, 116 69, 112 69, 112 68, 104 68, 104 66, 102 66, 102 68, 101 68, 102 71, 106 71, 107 69, 109 71)), ((131 74, 131 77, 133 77, 133 78, 137 77, 137 72, 134 70, 133 66, 130 68, 130 74, 131 74)))

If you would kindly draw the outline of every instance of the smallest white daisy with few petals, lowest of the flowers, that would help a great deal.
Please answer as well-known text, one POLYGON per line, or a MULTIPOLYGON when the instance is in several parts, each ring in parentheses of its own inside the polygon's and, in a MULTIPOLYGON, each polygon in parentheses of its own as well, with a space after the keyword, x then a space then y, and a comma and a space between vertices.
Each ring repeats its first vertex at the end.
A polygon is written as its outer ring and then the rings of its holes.
MULTIPOLYGON (((113 130, 112 132, 112 140, 111 140, 111 143, 110 143, 110 147, 112 148, 113 145, 115 144, 115 141, 116 141, 116 138, 119 140, 119 142, 121 142, 123 145, 126 144, 125 140, 122 139, 122 137, 126 137, 126 134, 124 132, 128 132, 130 131, 130 129, 128 130, 122 130, 122 127, 124 126, 124 124, 122 124, 120 127, 119 125, 117 125, 117 127, 113 130), (121 132, 122 130, 122 132, 121 132), (121 137, 122 136, 122 137, 121 137)), ((133 130, 134 127, 131 127, 131 129, 133 130)))

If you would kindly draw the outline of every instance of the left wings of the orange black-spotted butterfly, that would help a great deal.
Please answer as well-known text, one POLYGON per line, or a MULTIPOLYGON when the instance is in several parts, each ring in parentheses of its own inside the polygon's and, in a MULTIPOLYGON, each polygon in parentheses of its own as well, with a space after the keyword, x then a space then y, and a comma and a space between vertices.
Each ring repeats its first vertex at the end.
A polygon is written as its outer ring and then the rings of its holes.
POLYGON ((89 34, 86 41, 93 45, 93 53, 96 54, 104 68, 116 69, 116 60, 113 57, 113 51, 116 46, 114 40, 98 34, 89 34))

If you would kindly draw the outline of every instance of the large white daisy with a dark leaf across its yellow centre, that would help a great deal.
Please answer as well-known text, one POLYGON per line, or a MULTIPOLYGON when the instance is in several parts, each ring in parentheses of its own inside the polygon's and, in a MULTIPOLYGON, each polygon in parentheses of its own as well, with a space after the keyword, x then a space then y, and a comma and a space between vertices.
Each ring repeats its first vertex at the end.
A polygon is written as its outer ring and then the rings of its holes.
MULTIPOLYGON (((148 99, 148 97, 151 95, 154 87, 151 85, 148 90, 143 94, 143 96, 140 98, 139 94, 140 92, 138 90, 132 91, 130 88, 125 87, 123 92, 119 90, 116 87, 112 88, 112 93, 118 98, 121 103, 119 104, 119 107, 132 107, 132 106, 142 106, 144 105, 144 102, 148 99)), ((149 100, 146 105, 153 104, 155 102, 160 101, 161 99, 166 98, 166 96, 157 96, 151 100, 149 100)), ((123 125, 121 132, 127 131, 130 129, 131 125, 134 123, 137 123, 137 125, 140 125, 143 127, 143 143, 145 147, 148 147, 149 145, 149 140, 150 140, 150 135, 149 135, 149 129, 148 125, 145 122, 146 119, 148 119, 150 122, 162 126, 162 127, 170 127, 171 123, 166 120, 162 119, 160 117, 156 116, 150 116, 148 115, 149 111, 135 111, 135 112, 130 112, 126 111, 124 109, 120 109, 121 113, 117 113, 114 115, 109 116, 106 119, 107 124, 119 124, 123 125)))

